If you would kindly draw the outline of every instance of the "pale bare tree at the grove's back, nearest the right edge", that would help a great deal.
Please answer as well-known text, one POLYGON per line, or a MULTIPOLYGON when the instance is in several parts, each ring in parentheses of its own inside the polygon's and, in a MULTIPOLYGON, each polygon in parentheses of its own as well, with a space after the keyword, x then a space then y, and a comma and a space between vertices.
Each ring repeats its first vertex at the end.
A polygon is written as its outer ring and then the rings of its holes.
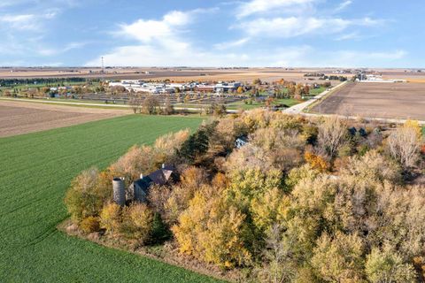
POLYGON ((407 169, 413 167, 419 159, 420 141, 417 130, 412 126, 398 127, 387 140, 391 157, 407 169))

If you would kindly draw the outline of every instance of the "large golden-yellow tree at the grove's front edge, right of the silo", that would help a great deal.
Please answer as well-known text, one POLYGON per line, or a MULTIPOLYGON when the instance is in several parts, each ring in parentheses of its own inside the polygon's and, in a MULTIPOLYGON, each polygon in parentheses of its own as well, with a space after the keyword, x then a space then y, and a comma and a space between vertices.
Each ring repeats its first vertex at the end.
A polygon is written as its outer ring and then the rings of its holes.
POLYGON ((243 220, 244 215, 229 206, 222 194, 205 187, 189 202, 172 231, 182 253, 230 268, 251 258, 244 248, 243 220))

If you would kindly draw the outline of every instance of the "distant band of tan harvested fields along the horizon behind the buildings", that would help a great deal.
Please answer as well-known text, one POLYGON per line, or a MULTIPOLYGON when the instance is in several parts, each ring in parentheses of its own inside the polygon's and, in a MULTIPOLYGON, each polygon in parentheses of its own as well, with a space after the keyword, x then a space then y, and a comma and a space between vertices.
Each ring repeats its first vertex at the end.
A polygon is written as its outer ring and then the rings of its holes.
MULTIPOLYGON (((106 69, 101 74, 100 68, 0 68, 2 79, 27 78, 106 78, 109 80, 173 80, 173 81, 213 81, 240 80, 251 82, 257 78, 264 81, 293 80, 296 82, 318 82, 318 78, 304 77, 305 73, 332 73, 334 69, 297 68, 285 70, 282 68, 249 68, 249 69, 218 69, 218 68, 113 68, 106 69)), ((344 74, 351 77, 351 74, 344 74)), ((336 81, 332 81, 336 84, 336 81)))

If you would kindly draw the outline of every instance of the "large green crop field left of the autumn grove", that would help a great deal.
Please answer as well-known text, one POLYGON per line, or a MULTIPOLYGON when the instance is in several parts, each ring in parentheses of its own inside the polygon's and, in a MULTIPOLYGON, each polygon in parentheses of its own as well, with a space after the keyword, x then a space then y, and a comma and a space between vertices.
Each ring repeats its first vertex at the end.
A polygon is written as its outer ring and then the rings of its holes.
POLYGON ((127 116, 0 139, 0 282, 215 281, 56 229, 67 218, 63 198, 79 172, 200 122, 127 116))

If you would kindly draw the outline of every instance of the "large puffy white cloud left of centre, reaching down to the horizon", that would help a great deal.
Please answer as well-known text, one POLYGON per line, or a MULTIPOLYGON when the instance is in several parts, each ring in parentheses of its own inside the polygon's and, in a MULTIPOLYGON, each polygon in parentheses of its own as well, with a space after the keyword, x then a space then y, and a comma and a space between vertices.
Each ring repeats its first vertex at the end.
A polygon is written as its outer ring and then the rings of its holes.
POLYGON ((99 65, 100 57, 104 57, 106 65, 120 66, 267 66, 295 63, 305 52, 304 46, 273 52, 222 52, 228 47, 242 46, 248 38, 215 44, 215 50, 205 50, 187 36, 189 24, 201 12, 205 10, 171 11, 159 20, 139 19, 128 25, 120 25, 115 35, 133 39, 140 44, 115 48, 90 60, 87 65, 99 65))

